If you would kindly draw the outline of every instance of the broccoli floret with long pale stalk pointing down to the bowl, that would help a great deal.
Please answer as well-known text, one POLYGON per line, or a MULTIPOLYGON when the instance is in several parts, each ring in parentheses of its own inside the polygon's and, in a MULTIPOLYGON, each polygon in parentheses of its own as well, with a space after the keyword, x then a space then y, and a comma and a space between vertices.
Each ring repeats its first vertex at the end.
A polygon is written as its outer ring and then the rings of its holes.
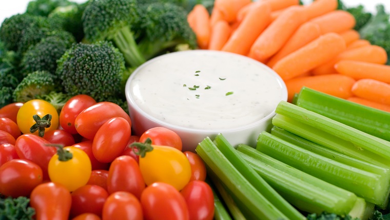
POLYGON ((83 14, 87 42, 112 40, 128 65, 138 67, 146 60, 140 53, 132 32, 138 22, 135 0, 98 0, 88 4, 83 14))

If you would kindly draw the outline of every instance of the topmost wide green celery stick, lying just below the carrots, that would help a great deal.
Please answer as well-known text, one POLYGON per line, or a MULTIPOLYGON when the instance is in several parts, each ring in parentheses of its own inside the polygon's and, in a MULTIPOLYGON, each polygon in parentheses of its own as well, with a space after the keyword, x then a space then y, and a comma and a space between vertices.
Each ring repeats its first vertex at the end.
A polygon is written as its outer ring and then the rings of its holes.
POLYGON ((390 141, 390 113, 303 87, 295 104, 390 141))

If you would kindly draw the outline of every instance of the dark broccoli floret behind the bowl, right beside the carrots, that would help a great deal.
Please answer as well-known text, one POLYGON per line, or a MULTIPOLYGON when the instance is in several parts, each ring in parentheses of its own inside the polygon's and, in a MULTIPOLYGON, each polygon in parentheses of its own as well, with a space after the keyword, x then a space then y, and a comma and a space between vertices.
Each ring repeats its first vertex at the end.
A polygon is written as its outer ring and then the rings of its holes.
POLYGON ((165 53, 181 44, 195 48, 196 35, 187 21, 187 12, 172 3, 151 3, 140 6, 139 48, 146 59, 165 53))

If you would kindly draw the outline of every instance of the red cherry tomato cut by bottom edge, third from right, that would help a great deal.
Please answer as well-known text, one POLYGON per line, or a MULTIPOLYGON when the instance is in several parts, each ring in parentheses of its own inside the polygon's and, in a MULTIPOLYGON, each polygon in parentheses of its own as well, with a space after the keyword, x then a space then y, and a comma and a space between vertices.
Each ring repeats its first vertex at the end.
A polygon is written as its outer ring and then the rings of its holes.
POLYGON ((108 196, 103 206, 102 219, 142 220, 140 201, 129 192, 114 192, 108 196))

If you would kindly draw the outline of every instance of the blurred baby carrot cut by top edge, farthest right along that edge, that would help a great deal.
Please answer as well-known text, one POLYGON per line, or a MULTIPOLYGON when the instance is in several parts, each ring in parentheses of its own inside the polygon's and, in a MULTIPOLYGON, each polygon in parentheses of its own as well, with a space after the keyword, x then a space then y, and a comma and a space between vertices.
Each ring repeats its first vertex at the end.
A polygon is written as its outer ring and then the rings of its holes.
POLYGON ((337 0, 316 0, 313 1, 313 3, 306 5, 304 7, 304 11, 307 19, 312 19, 336 10, 337 6, 337 0))

